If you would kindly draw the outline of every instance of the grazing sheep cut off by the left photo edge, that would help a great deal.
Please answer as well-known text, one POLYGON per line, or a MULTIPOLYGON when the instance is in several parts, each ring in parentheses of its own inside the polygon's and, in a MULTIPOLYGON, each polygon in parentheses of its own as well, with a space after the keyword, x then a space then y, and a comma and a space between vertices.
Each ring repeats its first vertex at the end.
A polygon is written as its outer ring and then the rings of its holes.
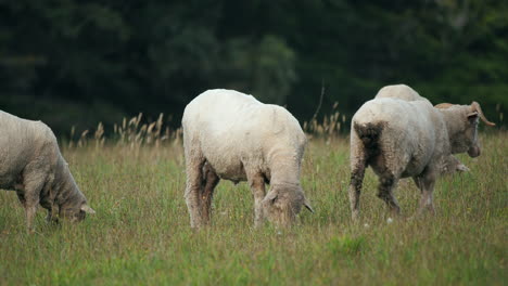
POLYGON ((94 213, 48 126, 0 110, 0 188, 16 191, 29 232, 39 203, 48 209, 48 221, 79 221, 86 212, 94 213))

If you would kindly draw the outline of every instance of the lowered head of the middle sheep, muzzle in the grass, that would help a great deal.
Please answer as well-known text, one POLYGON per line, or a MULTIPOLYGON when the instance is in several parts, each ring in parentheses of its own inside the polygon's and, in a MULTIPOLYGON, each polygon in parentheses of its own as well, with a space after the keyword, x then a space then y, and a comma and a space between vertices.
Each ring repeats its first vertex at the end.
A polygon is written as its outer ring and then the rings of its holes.
POLYGON ((272 185, 262 202, 265 218, 279 226, 289 226, 302 210, 302 206, 314 212, 300 185, 272 185))

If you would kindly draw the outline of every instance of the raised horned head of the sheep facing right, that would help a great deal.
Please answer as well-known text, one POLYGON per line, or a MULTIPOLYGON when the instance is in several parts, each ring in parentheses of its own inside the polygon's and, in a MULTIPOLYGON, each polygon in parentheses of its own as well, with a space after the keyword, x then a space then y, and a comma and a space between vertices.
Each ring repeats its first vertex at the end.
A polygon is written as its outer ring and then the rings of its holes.
POLYGON ((461 109, 461 113, 459 114, 462 116, 462 120, 454 120, 453 122, 460 126, 454 128, 454 130, 458 131, 456 134, 450 134, 450 138, 454 138, 454 142, 452 143, 452 153, 456 154, 467 152, 472 158, 480 156, 481 150, 478 142, 479 119, 482 119, 482 121, 487 126, 495 126, 495 123, 485 118, 480 104, 478 102, 472 102, 471 105, 441 103, 434 107, 442 109, 443 112, 454 110, 457 108, 461 109))

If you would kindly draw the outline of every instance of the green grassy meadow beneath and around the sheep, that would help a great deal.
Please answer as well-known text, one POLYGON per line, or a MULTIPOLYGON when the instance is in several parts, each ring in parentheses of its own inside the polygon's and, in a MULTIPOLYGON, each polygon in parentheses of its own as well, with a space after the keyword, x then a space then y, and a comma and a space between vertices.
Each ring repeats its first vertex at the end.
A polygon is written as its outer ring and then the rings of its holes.
MULTIPOLYGON (((79 224, 47 225, 34 235, 14 192, 0 192, 1 285, 506 285, 507 133, 482 136, 470 173, 442 178, 435 217, 386 223, 369 170, 359 224, 350 218, 348 142, 312 140, 302 183, 315 213, 294 227, 253 229, 244 183, 223 181, 213 225, 189 227, 180 144, 64 151, 97 214, 79 224), (365 226, 368 224, 368 226, 365 226)), ((404 217, 419 191, 396 191, 404 217)))

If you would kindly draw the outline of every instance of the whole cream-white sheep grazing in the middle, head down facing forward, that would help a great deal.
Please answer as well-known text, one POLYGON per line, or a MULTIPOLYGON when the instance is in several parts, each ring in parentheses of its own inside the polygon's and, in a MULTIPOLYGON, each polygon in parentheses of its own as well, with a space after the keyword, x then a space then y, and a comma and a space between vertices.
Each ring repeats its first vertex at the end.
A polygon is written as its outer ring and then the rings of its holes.
POLYGON ((306 136, 283 107, 233 90, 208 90, 187 105, 182 127, 192 227, 209 223, 220 179, 249 182, 256 226, 265 218, 287 225, 302 206, 312 210, 300 185, 306 136))

